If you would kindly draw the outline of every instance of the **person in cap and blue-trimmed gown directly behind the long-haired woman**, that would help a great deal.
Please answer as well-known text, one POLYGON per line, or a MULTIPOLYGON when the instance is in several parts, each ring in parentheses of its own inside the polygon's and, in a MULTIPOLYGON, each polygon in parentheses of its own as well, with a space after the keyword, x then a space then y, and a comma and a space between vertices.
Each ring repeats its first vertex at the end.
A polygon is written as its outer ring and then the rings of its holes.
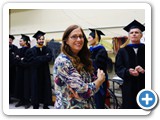
POLYGON ((90 29, 91 33, 89 34, 88 43, 91 46, 91 59, 93 62, 94 73, 97 75, 97 69, 103 70, 106 75, 106 80, 101 85, 100 89, 95 94, 95 103, 97 109, 105 108, 105 99, 106 99, 106 91, 107 91, 107 82, 108 82, 108 74, 107 74, 107 60, 108 53, 103 45, 99 42, 101 40, 101 35, 105 35, 100 30, 90 29))

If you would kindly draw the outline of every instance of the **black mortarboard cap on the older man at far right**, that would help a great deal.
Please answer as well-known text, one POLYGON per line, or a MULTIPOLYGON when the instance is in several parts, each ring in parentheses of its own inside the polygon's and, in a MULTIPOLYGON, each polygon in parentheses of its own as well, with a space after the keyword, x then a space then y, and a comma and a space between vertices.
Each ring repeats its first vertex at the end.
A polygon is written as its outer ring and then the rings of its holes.
POLYGON ((133 28, 138 28, 140 29, 142 32, 145 31, 145 26, 142 25, 140 22, 138 22, 137 20, 132 21, 130 24, 128 24, 126 27, 124 27, 123 29, 127 32, 130 31, 130 29, 133 28))

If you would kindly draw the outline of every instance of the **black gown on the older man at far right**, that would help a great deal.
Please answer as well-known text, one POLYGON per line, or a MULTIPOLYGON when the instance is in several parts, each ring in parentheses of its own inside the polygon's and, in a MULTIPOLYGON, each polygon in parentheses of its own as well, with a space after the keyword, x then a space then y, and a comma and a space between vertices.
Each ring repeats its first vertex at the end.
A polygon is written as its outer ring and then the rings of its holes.
POLYGON ((145 88, 145 74, 139 74, 138 77, 129 74, 129 68, 135 68, 140 65, 145 69, 145 45, 142 44, 137 51, 137 55, 130 46, 119 49, 116 62, 115 72, 124 82, 122 85, 123 109, 138 109, 136 102, 138 92, 145 88))

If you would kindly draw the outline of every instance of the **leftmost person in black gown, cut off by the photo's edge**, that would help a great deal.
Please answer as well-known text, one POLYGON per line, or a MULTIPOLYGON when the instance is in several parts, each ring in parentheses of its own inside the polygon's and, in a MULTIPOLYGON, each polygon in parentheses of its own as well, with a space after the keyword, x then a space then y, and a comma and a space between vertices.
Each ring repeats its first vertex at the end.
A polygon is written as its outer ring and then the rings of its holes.
POLYGON ((13 44, 15 37, 9 35, 9 103, 13 102, 16 80, 15 56, 18 53, 18 47, 13 44))

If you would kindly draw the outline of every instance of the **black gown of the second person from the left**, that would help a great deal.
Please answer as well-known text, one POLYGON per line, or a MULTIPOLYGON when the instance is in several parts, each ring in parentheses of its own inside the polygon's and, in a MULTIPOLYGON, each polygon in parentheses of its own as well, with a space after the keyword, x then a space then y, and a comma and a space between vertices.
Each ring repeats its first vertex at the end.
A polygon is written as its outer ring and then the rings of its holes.
POLYGON ((15 97, 27 101, 30 99, 30 74, 28 73, 28 63, 25 62, 25 54, 28 49, 28 47, 19 49, 19 57, 16 58, 17 76, 15 82, 15 97))

